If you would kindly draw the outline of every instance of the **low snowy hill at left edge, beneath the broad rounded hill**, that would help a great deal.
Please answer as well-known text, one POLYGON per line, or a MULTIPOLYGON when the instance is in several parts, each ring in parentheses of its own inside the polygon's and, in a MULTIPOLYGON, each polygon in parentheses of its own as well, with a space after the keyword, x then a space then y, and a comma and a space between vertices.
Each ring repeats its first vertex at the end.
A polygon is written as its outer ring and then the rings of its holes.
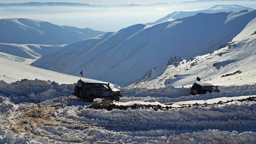
POLYGON ((56 52, 63 45, 37 45, 37 44, 5 44, 0 43, 0 52, 27 59, 38 59, 49 53, 56 52))

